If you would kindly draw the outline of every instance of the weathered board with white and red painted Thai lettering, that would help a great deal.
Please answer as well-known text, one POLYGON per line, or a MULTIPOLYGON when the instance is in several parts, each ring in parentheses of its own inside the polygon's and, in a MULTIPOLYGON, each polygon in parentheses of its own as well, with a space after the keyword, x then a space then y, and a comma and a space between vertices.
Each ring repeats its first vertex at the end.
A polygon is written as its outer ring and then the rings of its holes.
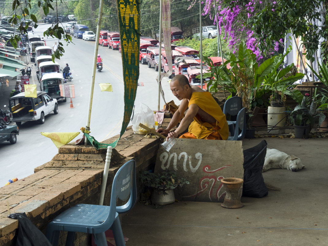
POLYGON ((174 189, 175 198, 185 201, 223 202, 222 178, 243 178, 241 141, 176 139, 167 152, 159 147, 155 173, 174 169, 179 176, 189 176, 189 185, 174 189))

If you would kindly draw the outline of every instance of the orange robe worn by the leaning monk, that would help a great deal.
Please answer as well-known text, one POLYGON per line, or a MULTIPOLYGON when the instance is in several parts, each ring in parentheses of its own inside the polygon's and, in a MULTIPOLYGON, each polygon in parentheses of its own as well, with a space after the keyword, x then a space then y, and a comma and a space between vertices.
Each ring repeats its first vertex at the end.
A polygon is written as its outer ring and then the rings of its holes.
POLYGON ((212 124, 202 122, 198 115, 196 115, 188 128, 188 132, 181 135, 180 138, 228 139, 229 128, 226 117, 210 92, 193 92, 188 106, 191 104, 196 104, 199 108, 211 115, 216 122, 212 124))

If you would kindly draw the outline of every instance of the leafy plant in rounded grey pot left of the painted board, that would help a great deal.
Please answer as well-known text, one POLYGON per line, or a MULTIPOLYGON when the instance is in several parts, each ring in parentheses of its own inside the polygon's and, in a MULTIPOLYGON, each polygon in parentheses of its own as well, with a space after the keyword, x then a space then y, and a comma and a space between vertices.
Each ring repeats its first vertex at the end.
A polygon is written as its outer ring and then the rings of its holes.
POLYGON ((140 173, 141 182, 148 187, 151 187, 151 200, 154 204, 165 205, 175 201, 174 189, 182 187, 184 184, 189 184, 187 177, 178 177, 175 170, 165 169, 164 171, 155 174, 151 171, 140 173))

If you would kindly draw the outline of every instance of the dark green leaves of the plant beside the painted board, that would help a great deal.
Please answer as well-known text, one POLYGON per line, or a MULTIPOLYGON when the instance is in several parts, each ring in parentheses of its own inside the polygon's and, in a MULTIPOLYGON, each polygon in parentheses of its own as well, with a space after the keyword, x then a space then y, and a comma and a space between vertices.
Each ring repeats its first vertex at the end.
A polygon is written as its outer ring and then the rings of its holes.
POLYGON ((154 174, 154 172, 144 171, 140 172, 141 182, 156 191, 164 191, 182 187, 184 184, 189 184, 189 177, 178 177, 174 170, 165 169, 161 173, 154 174))

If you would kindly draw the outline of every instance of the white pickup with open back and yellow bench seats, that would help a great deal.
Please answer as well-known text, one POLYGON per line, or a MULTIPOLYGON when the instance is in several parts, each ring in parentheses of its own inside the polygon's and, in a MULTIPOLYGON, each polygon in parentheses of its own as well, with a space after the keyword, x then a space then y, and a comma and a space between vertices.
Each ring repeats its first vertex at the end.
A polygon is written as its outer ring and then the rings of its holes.
POLYGON ((45 122, 45 116, 53 112, 58 114, 57 100, 51 98, 43 91, 36 92, 37 97, 25 97, 25 92, 19 93, 9 99, 12 122, 18 126, 25 121, 45 122))

